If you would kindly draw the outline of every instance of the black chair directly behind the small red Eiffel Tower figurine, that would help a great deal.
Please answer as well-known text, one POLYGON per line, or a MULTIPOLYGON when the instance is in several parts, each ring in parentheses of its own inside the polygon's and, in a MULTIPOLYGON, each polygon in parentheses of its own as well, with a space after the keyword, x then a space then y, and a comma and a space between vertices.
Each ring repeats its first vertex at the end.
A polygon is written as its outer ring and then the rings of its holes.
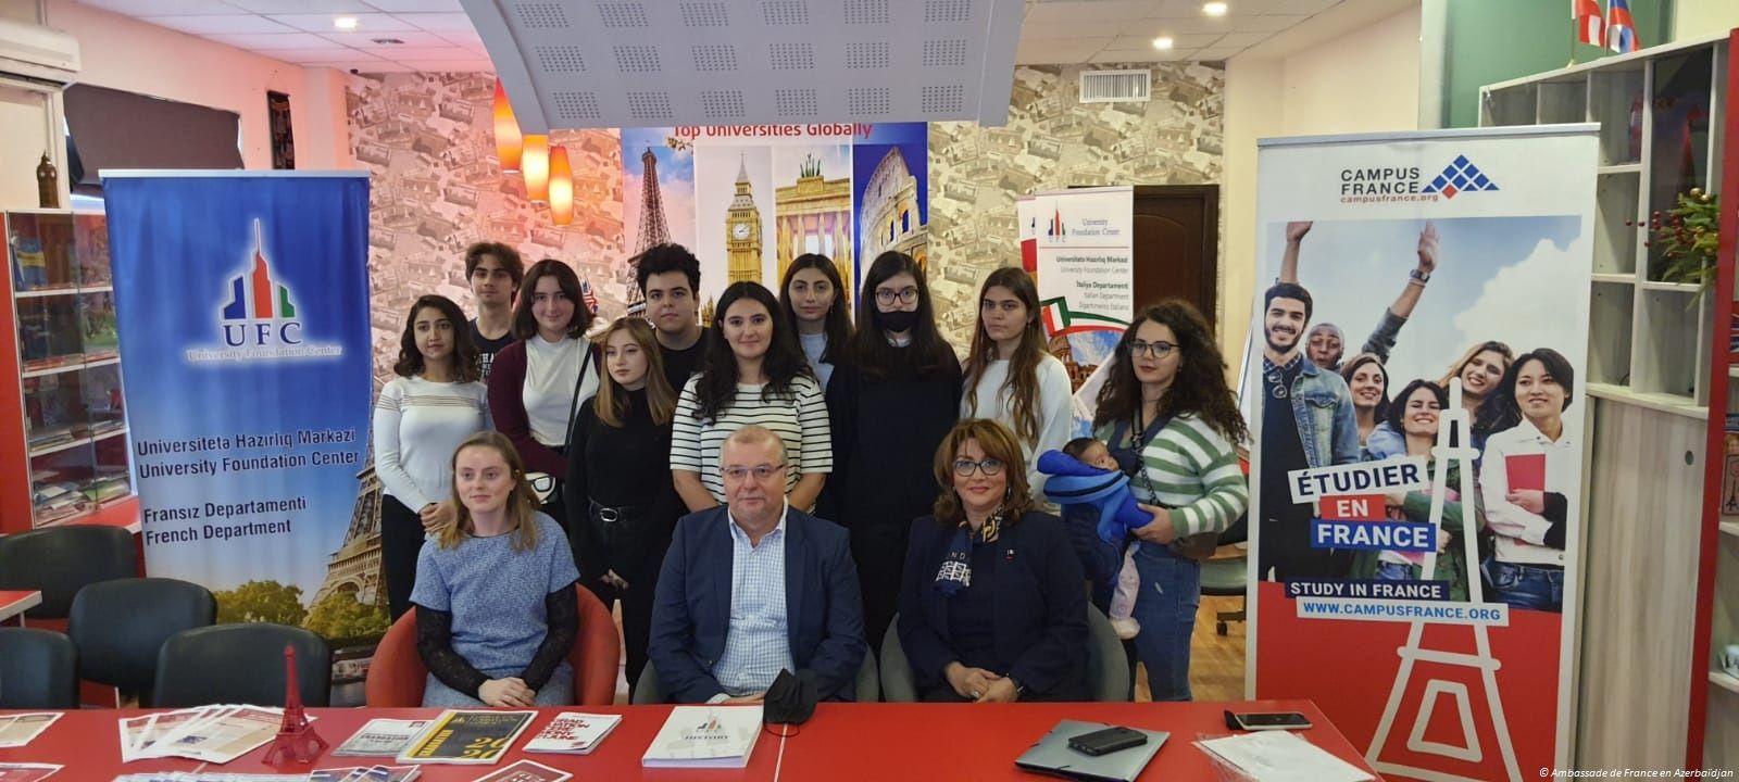
POLYGON ((323 638, 283 624, 219 624, 177 633, 157 657, 153 706, 283 704, 283 646, 296 650, 303 706, 327 706, 332 653, 323 638))

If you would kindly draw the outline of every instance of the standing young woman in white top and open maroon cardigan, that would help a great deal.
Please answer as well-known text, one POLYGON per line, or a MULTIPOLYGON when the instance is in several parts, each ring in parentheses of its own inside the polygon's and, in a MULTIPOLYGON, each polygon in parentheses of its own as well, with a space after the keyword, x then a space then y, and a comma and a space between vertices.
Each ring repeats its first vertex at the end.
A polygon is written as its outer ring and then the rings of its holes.
POLYGON ((598 393, 598 356, 586 342, 591 309, 581 302, 579 275, 556 259, 525 271, 513 308, 513 342, 489 368, 489 414, 525 459, 543 511, 569 523, 563 490, 567 433, 579 405, 598 393))

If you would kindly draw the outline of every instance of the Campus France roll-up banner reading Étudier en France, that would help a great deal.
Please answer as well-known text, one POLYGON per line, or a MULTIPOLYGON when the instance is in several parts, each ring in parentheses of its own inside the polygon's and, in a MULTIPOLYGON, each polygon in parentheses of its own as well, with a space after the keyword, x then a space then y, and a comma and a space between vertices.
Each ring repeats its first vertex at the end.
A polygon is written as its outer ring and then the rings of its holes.
POLYGON ((1595 144, 1259 144, 1247 688, 1388 779, 1570 761, 1595 144))

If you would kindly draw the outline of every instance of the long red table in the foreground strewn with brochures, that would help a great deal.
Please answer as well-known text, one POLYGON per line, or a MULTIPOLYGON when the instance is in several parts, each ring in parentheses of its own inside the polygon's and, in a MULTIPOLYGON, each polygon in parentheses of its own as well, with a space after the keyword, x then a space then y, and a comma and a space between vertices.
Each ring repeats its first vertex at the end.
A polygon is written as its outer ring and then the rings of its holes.
MULTIPOLYGON (((591 780, 1042 780, 1014 766, 1014 758, 1045 735, 1057 719, 1090 719, 1137 728, 1165 730, 1170 739, 1143 772, 1143 780, 1212 780, 1214 772, 1200 749, 1191 746, 1202 735, 1224 735, 1224 709, 1301 711, 1316 726, 1303 732, 1329 752, 1370 770, 1308 700, 1252 700, 1236 704, 821 704, 816 716, 798 728, 798 735, 781 740, 762 733, 748 768, 689 770, 642 768, 640 756, 664 725, 670 706, 570 707, 623 714, 623 723, 590 756, 510 752, 508 759, 530 758, 574 773, 576 782, 591 780), (781 746, 783 744, 783 746, 781 746)), ((430 718, 438 709, 308 709, 315 728, 332 746, 341 744, 372 718, 430 718)), ((563 709, 541 709, 527 733, 536 733, 563 709)), ((66 712, 28 747, 0 749, 0 763, 57 763, 66 768, 54 779, 110 780, 120 773, 191 772, 195 761, 157 758, 120 763, 117 719, 139 711, 85 709, 66 712)), ((525 744, 522 737, 516 746, 525 744)), ((207 770, 233 773, 294 773, 304 768, 264 766, 264 747, 252 754, 207 770)), ((330 751, 308 768, 356 766, 383 763, 377 758, 334 758, 330 751)), ((482 777, 499 766, 426 765, 419 780, 456 782, 482 777)), ((1376 775, 1372 772, 1372 775, 1376 775)))

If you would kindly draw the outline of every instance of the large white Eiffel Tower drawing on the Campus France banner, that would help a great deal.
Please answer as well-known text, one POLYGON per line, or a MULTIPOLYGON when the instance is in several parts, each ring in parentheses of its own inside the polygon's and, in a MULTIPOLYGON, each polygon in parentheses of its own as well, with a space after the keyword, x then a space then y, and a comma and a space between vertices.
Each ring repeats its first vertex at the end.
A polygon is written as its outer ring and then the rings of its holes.
MULTIPOLYGON (((1436 427, 1436 445, 1431 448, 1431 455, 1436 459, 1431 469, 1431 527, 1436 527, 1443 533, 1443 502, 1445 490, 1449 488, 1449 462, 1456 461, 1461 469, 1461 502, 1464 507, 1473 507, 1473 459, 1480 455, 1473 448, 1468 426, 1468 412, 1461 407, 1461 379, 1449 381, 1449 405, 1438 414, 1436 427), (1450 445, 1457 441, 1454 433, 1461 433, 1461 445, 1450 445)), ((1499 467, 1501 469, 1501 467, 1499 467)), ((1476 518, 1473 513, 1462 514, 1461 544, 1462 554, 1468 561, 1468 568, 1478 567, 1478 535, 1476 535, 1476 518)), ((1436 551, 1424 554, 1424 567, 1419 572, 1419 579, 1431 580, 1436 575, 1438 556, 1436 551)), ((1480 605, 1485 601, 1483 587, 1480 584, 1478 573, 1468 573, 1468 601, 1469 605, 1480 605)), ((1365 751, 1365 759, 1370 766, 1379 772, 1400 773, 1414 779, 1423 779, 1428 782, 1480 782, 1476 777, 1461 777, 1456 773, 1436 772, 1429 768, 1409 766, 1405 763, 1383 761, 1383 747, 1388 742, 1389 730, 1395 726, 1395 718, 1400 712, 1402 699, 1407 693, 1407 685, 1412 681, 1414 666, 1419 662, 1431 662, 1438 666, 1454 667, 1471 667, 1480 671, 1480 681, 1485 685, 1485 702, 1490 704, 1492 712, 1492 733, 1497 737, 1497 749, 1502 752, 1504 770, 1509 782, 1522 782, 1522 770, 1516 766, 1515 744, 1509 740, 1509 723, 1504 718, 1504 704, 1497 693, 1497 667, 1502 666, 1492 657, 1490 633, 1485 624, 1475 624, 1468 629, 1473 631, 1473 643, 1476 653, 1464 652, 1447 652, 1424 648, 1421 640, 1424 636, 1424 620, 1414 620, 1412 629, 1407 633, 1407 645, 1396 648, 1395 653, 1402 659, 1402 667, 1395 674, 1395 686, 1389 690, 1389 700, 1383 707, 1383 719, 1377 723, 1377 732, 1370 737, 1370 747, 1365 751)), ((1445 626, 1456 627, 1459 626, 1445 626)), ((1429 674, 1428 674, 1429 676, 1429 674)), ((1457 759, 1462 763, 1480 763, 1485 759, 1485 751, 1480 747, 1478 725, 1473 719, 1473 700, 1468 693, 1468 685, 1461 681, 1429 678, 1426 679, 1424 692, 1417 712, 1414 712, 1412 730, 1407 733, 1407 749, 1419 754, 1435 754, 1442 758, 1457 759), (1461 737, 1462 746, 1426 740, 1426 728, 1431 725, 1431 716, 1436 711, 1438 697, 1447 695, 1454 700, 1456 716, 1461 719, 1461 737)))

